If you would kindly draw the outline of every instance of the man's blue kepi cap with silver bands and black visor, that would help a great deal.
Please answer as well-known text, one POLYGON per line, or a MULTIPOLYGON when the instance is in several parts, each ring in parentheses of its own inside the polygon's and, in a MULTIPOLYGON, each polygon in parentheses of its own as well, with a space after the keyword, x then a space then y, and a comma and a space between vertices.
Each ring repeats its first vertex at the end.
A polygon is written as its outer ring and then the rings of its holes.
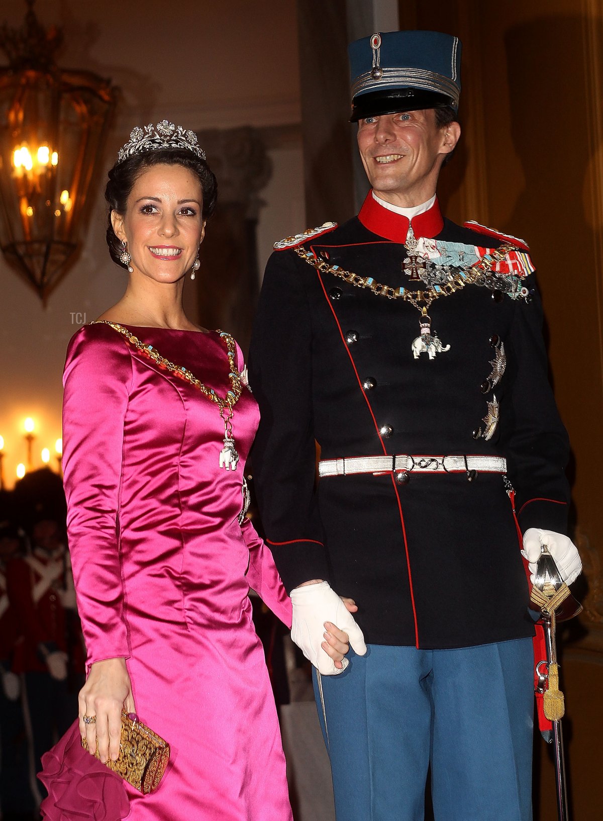
POLYGON ((461 44, 439 31, 386 31, 349 44, 350 122, 450 105, 458 110, 461 44))

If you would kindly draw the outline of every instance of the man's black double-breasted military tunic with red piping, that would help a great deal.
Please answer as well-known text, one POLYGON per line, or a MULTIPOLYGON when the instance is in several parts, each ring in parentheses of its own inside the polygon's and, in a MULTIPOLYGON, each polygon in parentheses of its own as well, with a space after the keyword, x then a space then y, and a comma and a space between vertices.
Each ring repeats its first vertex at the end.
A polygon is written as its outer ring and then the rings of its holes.
MULTIPOLYGON (((404 245, 384 238, 391 212, 379 236, 372 203, 373 231, 353 218, 304 247, 328 255, 328 264, 413 287, 401 270, 404 245)), ((433 224, 439 229, 441 218, 433 224)), ((501 244, 448 220, 436 239, 501 244)), ((327 579, 355 599, 368 643, 445 649, 533 633, 519 530, 564 532, 569 501, 569 445, 547 377, 533 278, 524 282, 528 302, 493 298, 477 285, 436 300, 432 327, 450 351, 415 360, 419 314, 409 303, 318 274, 294 250, 277 251, 267 264, 249 355, 262 415, 252 456, 267 543, 287 589, 327 579), (494 334, 507 366, 484 394, 494 334), (492 393, 500 423, 490 441, 476 440, 492 393), (500 474, 473 482, 412 473, 400 484, 389 473, 316 483, 315 440, 322 459, 505 456, 517 516, 500 474)))

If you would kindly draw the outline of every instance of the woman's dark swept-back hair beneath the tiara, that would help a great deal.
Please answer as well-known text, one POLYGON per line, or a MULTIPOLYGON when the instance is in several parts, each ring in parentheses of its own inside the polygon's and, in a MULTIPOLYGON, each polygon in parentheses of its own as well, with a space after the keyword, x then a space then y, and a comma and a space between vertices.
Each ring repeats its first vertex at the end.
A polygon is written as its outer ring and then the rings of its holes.
POLYGON ((201 183, 203 190, 203 208, 201 215, 203 219, 205 220, 211 217, 216 208, 216 177, 212 169, 208 166, 208 163, 192 151, 187 149, 157 149, 155 151, 146 151, 144 154, 132 154, 122 163, 115 163, 109 172, 109 180, 105 188, 105 200, 107 200, 109 206, 109 213, 107 215, 107 245, 109 246, 111 259, 121 268, 127 268, 128 266, 124 265, 120 259, 123 253, 123 246, 113 231, 111 212, 116 211, 116 213, 119 214, 126 213, 126 203, 131 190, 134 188, 135 181, 139 178, 140 174, 153 165, 180 165, 183 168, 188 168, 189 171, 192 171, 198 177, 201 183))

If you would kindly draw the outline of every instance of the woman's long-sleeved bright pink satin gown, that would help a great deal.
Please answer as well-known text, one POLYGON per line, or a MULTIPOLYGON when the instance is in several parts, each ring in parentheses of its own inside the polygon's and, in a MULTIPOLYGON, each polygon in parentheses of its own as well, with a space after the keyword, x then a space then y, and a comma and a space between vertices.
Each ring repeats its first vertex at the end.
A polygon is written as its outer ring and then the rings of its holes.
MULTIPOLYGON (((129 329, 221 396, 231 387, 218 333, 129 329)), ((218 406, 113 328, 75 333, 63 381, 67 527, 87 661, 126 658, 140 720, 171 744, 156 792, 126 784, 128 818, 290 821, 249 586, 288 625, 290 599, 270 550, 237 520, 254 397, 244 388, 235 406, 240 461, 230 471, 219 467, 218 406)))

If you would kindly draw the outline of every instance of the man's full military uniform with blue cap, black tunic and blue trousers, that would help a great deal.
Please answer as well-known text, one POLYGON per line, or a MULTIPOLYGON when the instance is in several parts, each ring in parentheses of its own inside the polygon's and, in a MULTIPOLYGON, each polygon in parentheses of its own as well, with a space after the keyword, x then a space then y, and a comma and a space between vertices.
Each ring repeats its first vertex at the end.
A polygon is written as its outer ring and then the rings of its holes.
MULTIPOLYGON (((456 108, 457 38, 374 34, 350 57, 353 120, 456 108)), ((568 439, 527 246, 435 197, 407 211, 370 192, 276 243, 249 355, 255 487, 294 626, 300 596, 324 621, 311 580, 359 608, 368 652, 314 672, 337 818, 423 819, 431 765, 437 821, 528 821, 520 549, 529 528, 564 533, 568 439)))

